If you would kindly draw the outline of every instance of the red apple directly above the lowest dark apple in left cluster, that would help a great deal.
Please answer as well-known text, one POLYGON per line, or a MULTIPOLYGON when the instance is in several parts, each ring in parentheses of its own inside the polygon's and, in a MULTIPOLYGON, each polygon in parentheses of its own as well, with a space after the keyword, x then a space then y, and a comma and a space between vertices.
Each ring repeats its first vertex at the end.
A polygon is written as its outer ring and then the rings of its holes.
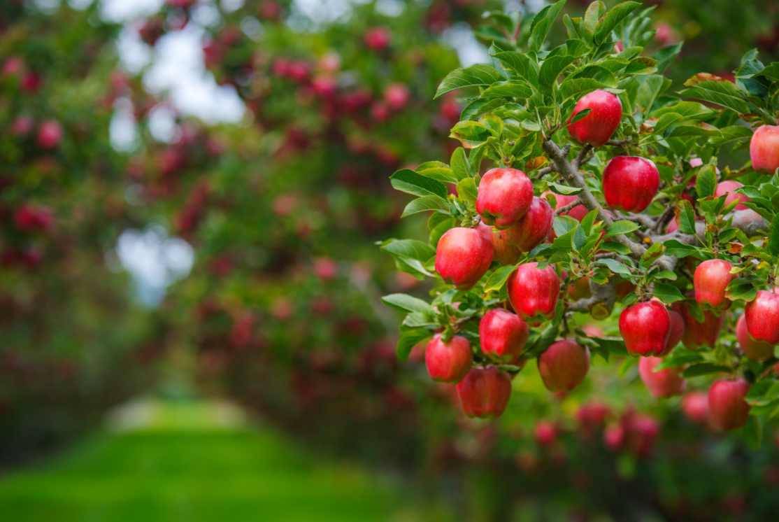
POLYGON ((513 362, 522 352, 530 331, 520 316, 492 309, 479 322, 481 351, 502 362, 513 362))

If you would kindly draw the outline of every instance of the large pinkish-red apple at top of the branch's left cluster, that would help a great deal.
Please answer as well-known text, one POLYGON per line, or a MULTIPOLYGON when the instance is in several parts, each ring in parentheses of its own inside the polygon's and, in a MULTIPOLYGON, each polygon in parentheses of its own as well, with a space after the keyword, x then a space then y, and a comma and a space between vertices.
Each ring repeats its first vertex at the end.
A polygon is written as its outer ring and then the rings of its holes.
POLYGON ((492 168, 479 182, 476 211, 486 224, 510 227, 533 202, 533 183, 516 168, 492 168))

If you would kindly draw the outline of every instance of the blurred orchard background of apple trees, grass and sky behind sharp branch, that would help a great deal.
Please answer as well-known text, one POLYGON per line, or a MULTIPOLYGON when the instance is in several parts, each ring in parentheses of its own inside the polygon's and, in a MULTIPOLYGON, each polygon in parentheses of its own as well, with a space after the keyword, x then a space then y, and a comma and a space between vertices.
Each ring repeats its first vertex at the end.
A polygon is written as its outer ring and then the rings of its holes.
MULTIPOLYGON (((776 2, 646 4, 679 84, 779 56, 776 2)), ((426 289, 376 242, 424 222, 388 177, 456 146, 483 13, 544 5, 0 2, 4 520, 775 520, 775 427, 629 362, 485 423, 396 361, 379 298, 426 289)))

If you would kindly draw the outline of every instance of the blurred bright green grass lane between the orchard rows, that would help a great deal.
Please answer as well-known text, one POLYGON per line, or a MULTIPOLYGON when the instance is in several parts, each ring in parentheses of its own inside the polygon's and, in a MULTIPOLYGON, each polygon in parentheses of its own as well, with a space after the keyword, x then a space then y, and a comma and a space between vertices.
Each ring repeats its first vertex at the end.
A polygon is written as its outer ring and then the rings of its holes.
POLYGON ((0 478, 2 520, 420 519, 386 478, 312 457, 270 429, 224 421, 211 404, 154 403, 143 412, 132 429, 100 432, 0 478))

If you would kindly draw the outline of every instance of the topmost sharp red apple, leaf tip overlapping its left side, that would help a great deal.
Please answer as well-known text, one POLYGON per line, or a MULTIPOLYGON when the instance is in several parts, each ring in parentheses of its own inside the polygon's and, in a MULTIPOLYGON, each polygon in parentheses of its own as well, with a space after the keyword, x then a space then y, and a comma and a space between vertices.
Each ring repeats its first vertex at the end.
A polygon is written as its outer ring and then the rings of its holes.
POLYGON ((622 102, 619 98, 605 90, 594 90, 576 102, 568 118, 568 132, 579 143, 601 146, 611 139, 621 119, 622 102), (570 123, 584 109, 590 109, 590 114, 570 123))

